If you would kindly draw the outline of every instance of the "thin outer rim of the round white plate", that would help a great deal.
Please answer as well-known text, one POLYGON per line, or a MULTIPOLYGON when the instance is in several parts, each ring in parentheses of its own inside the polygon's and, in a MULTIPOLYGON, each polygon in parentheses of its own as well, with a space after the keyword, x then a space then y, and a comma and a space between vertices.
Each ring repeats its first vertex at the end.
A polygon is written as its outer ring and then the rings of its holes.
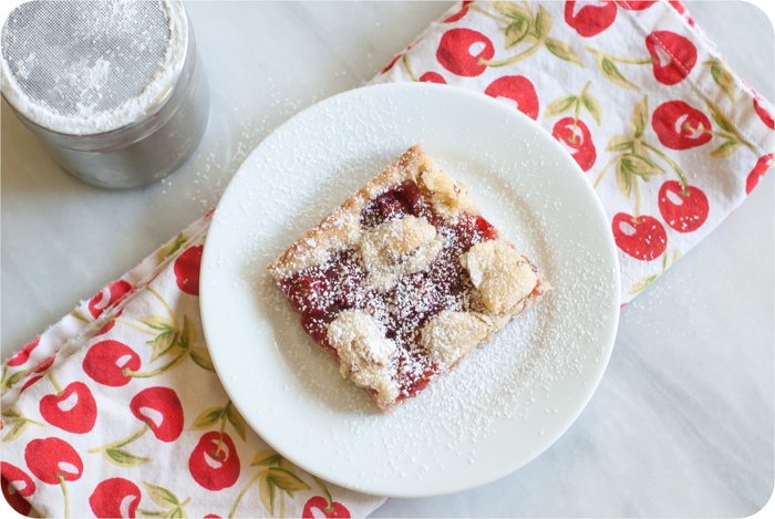
MULTIPOLYGON (((568 165, 571 167, 571 169, 574 169, 575 174, 581 177, 581 179, 583 180, 585 186, 586 186, 585 189, 588 191, 588 194, 591 195, 590 199, 593 200, 593 204, 592 204, 593 210, 597 212, 597 216, 599 218, 601 218, 602 221, 606 222, 607 226, 609 225, 608 215, 606 212, 606 209, 602 206, 602 203, 600 201, 600 199, 597 196, 597 194, 595 193, 592 186, 589 184, 589 179, 586 178, 586 175, 583 174, 581 168, 578 166, 576 160, 574 160, 572 157, 570 155, 568 155, 568 153, 561 147, 560 143, 557 142, 542 126, 540 126, 540 124, 538 124, 537 121, 531 120, 530 117, 528 117, 524 113, 519 112, 518 110, 515 110, 510 106, 507 106, 506 104, 504 104, 504 103, 502 103, 502 102, 499 102, 490 96, 487 96, 485 94, 482 94, 482 93, 478 93, 478 92, 475 92, 475 91, 472 91, 468 89, 459 87, 456 85, 442 85, 442 84, 434 84, 434 83, 427 83, 427 82, 425 82, 425 83, 414 83, 413 82, 413 83, 371 84, 371 85, 365 85, 365 86, 352 89, 352 90, 349 90, 345 92, 340 92, 338 94, 334 94, 334 95, 329 96, 324 100, 318 101, 317 103, 306 107, 304 110, 294 114, 293 116, 291 116, 290 118, 285 121, 282 124, 277 126, 275 129, 272 129, 247 155, 247 157, 240 164, 240 166, 237 169, 237 172, 235 173, 235 175, 229 180, 223 195, 220 196, 220 199, 218 200, 218 204, 216 205, 215 211, 213 214, 213 219, 210 220, 210 224, 209 224, 207 236, 205 238, 203 256, 202 256, 202 270, 200 270, 200 287, 202 287, 202 289, 200 289, 200 297, 199 297, 199 312, 200 312, 200 316, 202 316, 203 335, 205 338, 205 341, 207 342, 208 351, 209 351, 210 341, 208 340, 209 334, 208 334, 207 324, 206 324, 206 321, 208 320, 206 318, 206 315, 208 314, 206 311, 206 304, 208 301, 208 297, 206 294, 209 292, 209 289, 207 288, 208 283, 206 282, 207 281, 206 278, 208 277, 208 274, 206 273, 205 266, 208 264, 208 259, 211 259, 210 256, 215 255, 215 252, 213 252, 213 250, 214 250, 213 247, 208 247, 208 243, 213 243, 213 241, 209 240, 209 237, 211 236, 211 231, 214 230, 214 228, 217 228, 217 226, 220 222, 220 219, 218 218, 218 215, 219 215, 218 209, 221 208, 221 205, 225 204, 225 200, 228 199, 229 193, 234 189, 237 189, 239 181, 241 181, 240 179, 249 173, 250 163, 254 162, 255 157, 260 156, 264 148, 267 146, 270 146, 272 139, 278 138, 278 135, 282 133, 283 128, 291 126, 292 124, 294 124, 294 122, 297 120, 301 120, 306 116, 309 116, 309 115, 307 115, 308 113, 316 111, 316 110, 323 110, 323 106, 331 105, 338 101, 341 101, 342 98, 347 98, 349 96, 368 95, 369 92, 381 91, 381 90, 384 90, 384 91, 417 90, 418 92, 420 91, 448 92, 451 86, 452 86, 452 89, 454 89, 457 92, 457 94, 475 98, 476 100, 475 102, 487 103, 493 107, 497 107, 497 110, 502 111, 504 114, 506 114, 509 117, 516 116, 517 118, 521 120, 520 121, 521 124, 527 124, 529 126, 534 126, 536 129, 539 129, 540 131, 539 133, 546 137, 547 143, 550 143, 549 144, 550 146, 552 146, 556 150, 560 152, 559 155, 564 156, 564 159, 568 163, 568 165), (589 193, 589 191, 591 191, 591 193, 589 193)), ((223 211, 221 211, 221 214, 223 214, 223 211)), ((620 299, 620 292, 621 292, 621 279, 619 276, 619 272, 620 272, 619 256, 617 252, 617 247, 616 247, 616 242, 613 240, 613 236, 611 233, 607 233, 604 239, 607 239, 609 241, 609 250, 611 251, 609 259, 613 260, 613 266, 616 267, 616 271, 617 271, 617 274, 612 277, 612 279, 614 280, 614 283, 613 283, 614 287, 612 287, 612 289, 613 289, 612 293, 617 297, 617 301, 618 301, 620 299)), ((509 474, 515 473, 516 470, 519 470, 520 468, 525 467, 526 465, 528 465, 529 463, 535 460, 537 457, 539 457, 541 454, 544 454, 549 447, 551 447, 562 435, 565 435, 568 432, 570 426, 576 423, 576 421, 581 415, 581 413, 587 408, 587 405, 589 405, 589 402, 591 401, 592 396, 597 392, 597 390, 600 385, 600 382, 602 381, 602 378, 606 374, 606 371, 608 370, 610 357, 611 357, 611 354, 613 352, 613 347, 616 344, 616 336, 617 336, 619 321, 620 321, 620 311, 619 311, 619 303, 618 302, 616 303, 616 311, 612 312, 612 314, 613 314, 612 325, 608 330, 608 332, 610 333, 611 336, 607 341, 607 347, 604 349, 604 351, 602 352, 602 354, 600 356, 600 367, 596 371, 597 375, 595 376, 593 384, 591 384, 591 383, 589 384, 590 390, 585 395, 580 405, 578 405, 578 407, 575 408, 572 413, 569 413, 567 415, 569 419, 566 421, 564 426, 554 429, 552 430, 554 434, 547 437, 547 442, 542 446, 542 448, 536 449, 534 453, 531 453, 531 456, 527 457, 524 463, 521 463, 520 465, 518 465, 516 467, 513 467, 512 465, 509 465, 508 468, 505 468, 503 470, 490 470, 489 474, 493 474, 492 477, 485 478, 485 479, 479 480, 477 482, 462 484, 462 485, 457 485, 457 486, 447 486, 447 487, 453 487, 453 488, 445 488, 441 491, 425 491, 425 492, 407 491, 407 492, 397 492, 397 494, 395 491, 393 491, 390 494, 381 494, 379 491, 374 491, 372 489, 369 489, 368 494, 370 494, 372 496, 395 497, 395 498, 423 498, 423 497, 444 496, 444 495, 450 495, 450 494, 454 494, 454 492, 458 492, 458 491, 465 491, 465 490, 478 488, 478 487, 482 487, 484 485, 490 484, 490 482, 496 481, 503 477, 508 476, 509 474)), ((237 407, 237 409, 240 411, 242 416, 245 416, 245 413, 240 409, 239 404, 237 404, 237 402, 234 398, 234 394, 232 394, 234 387, 230 390, 229 383, 225 382, 228 380, 226 376, 227 370, 223 365, 220 367, 218 366, 219 361, 216 360, 217 355, 213 355, 213 353, 210 352, 210 356, 211 356, 213 364, 214 364, 215 370, 216 370, 216 374, 218 375, 218 377, 221 382, 224 391, 227 393, 227 395, 229 396, 229 399, 237 407)), ((281 451, 281 449, 277 449, 275 445, 272 445, 269 440, 267 440, 264 436, 261 436, 259 434, 259 432, 257 430, 256 427, 254 427, 254 425, 251 424, 249 418, 246 417, 245 421, 247 422, 248 426, 250 426, 250 428, 261 438, 261 440, 264 440, 267 445, 269 445, 271 448, 273 448, 275 450, 277 450, 281 455, 286 456, 281 451)), ((286 457, 288 457, 288 456, 286 456, 286 457)), ((348 482, 345 480, 342 480, 338 477, 331 477, 330 475, 318 476, 318 474, 316 474, 314 470, 311 470, 309 468, 308 464, 304 460, 299 461, 297 459, 291 459, 291 457, 288 457, 288 459, 291 463, 293 463, 294 465, 297 465, 299 468, 306 470, 307 473, 312 474, 317 477, 321 477, 321 478, 326 479, 327 481, 330 481, 334 485, 339 485, 343 488, 348 488, 350 490, 358 491, 361 494, 366 492, 362 487, 354 485, 352 482, 348 482)))

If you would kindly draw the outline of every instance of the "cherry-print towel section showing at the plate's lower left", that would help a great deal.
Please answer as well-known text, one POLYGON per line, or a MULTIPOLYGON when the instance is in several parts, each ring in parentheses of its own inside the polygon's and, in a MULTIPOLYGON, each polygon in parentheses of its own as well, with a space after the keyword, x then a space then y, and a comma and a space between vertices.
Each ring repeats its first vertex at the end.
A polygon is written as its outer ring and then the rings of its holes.
POLYGON ((199 320, 210 216, 2 372, 2 490, 44 517, 359 517, 384 498, 294 467, 245 423, 199 320))

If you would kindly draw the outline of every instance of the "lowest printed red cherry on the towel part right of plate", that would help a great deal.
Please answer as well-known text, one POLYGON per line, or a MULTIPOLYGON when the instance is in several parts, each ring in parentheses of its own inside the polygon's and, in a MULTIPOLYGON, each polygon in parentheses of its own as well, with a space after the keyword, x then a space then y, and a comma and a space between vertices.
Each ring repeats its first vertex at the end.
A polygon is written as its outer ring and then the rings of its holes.
POLYGON ((617 247, 636 259, 652 261, 662 256, 668 247, 664 227, 650 216, 636 218, 619 212, 613 217, 611 228, 617 247))

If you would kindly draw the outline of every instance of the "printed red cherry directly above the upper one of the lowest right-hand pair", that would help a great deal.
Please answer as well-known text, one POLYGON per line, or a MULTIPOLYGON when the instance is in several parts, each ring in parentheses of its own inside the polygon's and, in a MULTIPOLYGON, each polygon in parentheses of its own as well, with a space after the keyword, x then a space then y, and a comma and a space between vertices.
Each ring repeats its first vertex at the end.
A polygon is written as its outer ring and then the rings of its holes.
POLYGON ((668 101, 654 110, 651 126, 663 146, 670 149, 689 149, 702 146, 713 136, 705 114, 683 101, 668 101))

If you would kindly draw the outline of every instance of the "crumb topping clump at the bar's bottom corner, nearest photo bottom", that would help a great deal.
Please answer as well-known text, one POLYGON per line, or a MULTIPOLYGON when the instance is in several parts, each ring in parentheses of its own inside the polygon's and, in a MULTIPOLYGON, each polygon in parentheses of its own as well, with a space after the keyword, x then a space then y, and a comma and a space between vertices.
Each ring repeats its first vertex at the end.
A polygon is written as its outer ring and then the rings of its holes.
POLYGON ((328 340, 339 354, 342 378, 374 390, 381 402, 399 396, 389 369, 395 343, 385 339, 384 328, 371 315, 358 310, 340 313, 328 326, 328 340))

